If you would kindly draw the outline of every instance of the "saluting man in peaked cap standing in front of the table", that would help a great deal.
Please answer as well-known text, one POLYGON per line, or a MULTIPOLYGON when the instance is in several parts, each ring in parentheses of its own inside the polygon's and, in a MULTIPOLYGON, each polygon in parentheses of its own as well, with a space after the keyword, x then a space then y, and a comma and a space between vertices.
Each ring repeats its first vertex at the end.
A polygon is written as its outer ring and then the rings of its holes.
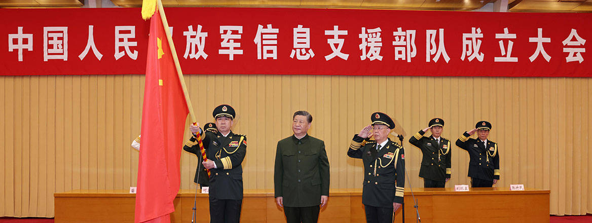
POLYGON ((363 162, 362 203, 365 205, 366 222, 392 222, 393 212, 403 204, 404 149, 388 138, 395 123, 387 114, 375 112, 371 119, 371 125, 353 136, 348 156, 363 162), (375 140, 370 140, 372 134, 375 140))

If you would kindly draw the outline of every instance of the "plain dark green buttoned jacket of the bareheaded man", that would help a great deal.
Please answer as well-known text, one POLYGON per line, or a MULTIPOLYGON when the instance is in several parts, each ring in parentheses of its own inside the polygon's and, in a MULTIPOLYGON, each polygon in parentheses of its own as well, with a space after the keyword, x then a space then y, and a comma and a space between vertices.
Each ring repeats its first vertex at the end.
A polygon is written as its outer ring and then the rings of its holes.
POLYGON ((320 205, 321 195, 329 196, 329 159, 323 140, 305 135, 298 143, 294 135, 278 142, 275 152, 275 197, 284 197, 284 206, 320 205))

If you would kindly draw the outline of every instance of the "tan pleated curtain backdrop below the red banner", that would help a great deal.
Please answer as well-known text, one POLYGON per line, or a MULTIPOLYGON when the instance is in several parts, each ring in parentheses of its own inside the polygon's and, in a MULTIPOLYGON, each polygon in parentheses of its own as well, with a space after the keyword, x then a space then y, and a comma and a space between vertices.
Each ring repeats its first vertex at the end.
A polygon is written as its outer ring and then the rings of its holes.
MULTIPOLYGON (((0 77, 0 216, 54 216, 54 192, 136 186, 143 75, 0 77)), ((407 137, 445 119, 456 140, 475 122, 493 124, 498 187, 551 190, 549 214, 592 213, 592 79, 511 77, 186 75, 201 124, 219 104, 236 108, 234 131, 247 134, 245 189, 273 189, 275 148, 294 111, 313 115, 310 134, 325 141, 331 188, 361 188, 349 142, 370 114, 398 119, 407 137), (227 89, 221 91, 221 89, 227 89)), ((186 137, 189 136, 187 133, 186 137)), ((405 143, 414 187, 421 154, 405 143)), ((181 149, 181 145, 179 145, 181 149)), ((197 160, 183 153, 181 189, 194 189, 197 160)), ((468 154, 453 146, 452 179, 468 184, 468 154)))

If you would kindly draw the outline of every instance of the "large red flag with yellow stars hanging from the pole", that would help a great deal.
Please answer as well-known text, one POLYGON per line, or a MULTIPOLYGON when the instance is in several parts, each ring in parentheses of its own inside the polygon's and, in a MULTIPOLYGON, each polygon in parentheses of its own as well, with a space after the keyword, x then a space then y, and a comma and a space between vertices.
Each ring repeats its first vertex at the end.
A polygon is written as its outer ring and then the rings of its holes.
POLYGON ((170 222, 179 192, 180 159, 189 111, 159 11, 150 19, 142 108, 136 223, 170 222))

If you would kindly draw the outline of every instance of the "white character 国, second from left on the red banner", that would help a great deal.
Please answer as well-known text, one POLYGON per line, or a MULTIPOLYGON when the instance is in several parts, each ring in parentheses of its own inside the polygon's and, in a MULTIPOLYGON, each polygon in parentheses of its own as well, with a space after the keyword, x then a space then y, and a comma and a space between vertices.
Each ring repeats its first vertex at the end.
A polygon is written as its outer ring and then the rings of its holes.
POLYGON ((68 60, 68 27, 43 27, 43 61, 68 60))

